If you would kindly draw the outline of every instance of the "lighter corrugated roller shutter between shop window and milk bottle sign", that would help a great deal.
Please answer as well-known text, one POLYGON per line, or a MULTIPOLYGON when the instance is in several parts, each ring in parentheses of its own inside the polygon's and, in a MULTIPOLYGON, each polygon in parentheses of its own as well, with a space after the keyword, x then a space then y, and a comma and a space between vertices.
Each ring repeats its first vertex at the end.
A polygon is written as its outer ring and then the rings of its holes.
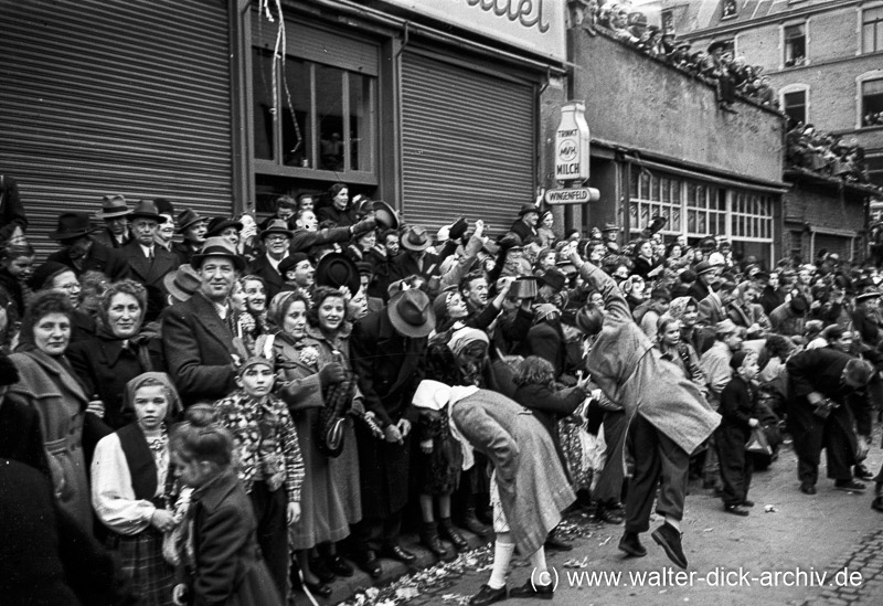
POLYGON ((506 232, 534 200, 534 88, 406 51, 403 210, 433 231, 458 216, 506 232))

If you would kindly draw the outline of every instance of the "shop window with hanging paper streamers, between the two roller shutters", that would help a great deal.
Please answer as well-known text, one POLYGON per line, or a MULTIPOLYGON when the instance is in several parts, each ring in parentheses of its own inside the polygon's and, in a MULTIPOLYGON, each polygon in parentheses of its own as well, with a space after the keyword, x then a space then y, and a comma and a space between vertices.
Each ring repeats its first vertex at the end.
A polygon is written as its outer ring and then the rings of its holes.
POLYGON ((286 23, 284 61, 276 30, 255 15, 252 105, 259 174, 374 183, 379 152, 379 47, 330 30, 286 23))

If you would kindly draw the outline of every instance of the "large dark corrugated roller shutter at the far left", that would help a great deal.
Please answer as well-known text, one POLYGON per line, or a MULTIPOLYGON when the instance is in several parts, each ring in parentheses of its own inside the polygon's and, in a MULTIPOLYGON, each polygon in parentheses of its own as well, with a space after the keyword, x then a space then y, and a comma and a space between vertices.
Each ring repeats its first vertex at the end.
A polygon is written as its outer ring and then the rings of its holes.
POLYGON ((2 1, 0 172, 40 253, 106 193, 232 212, 227 21, 224 0, 2 1))

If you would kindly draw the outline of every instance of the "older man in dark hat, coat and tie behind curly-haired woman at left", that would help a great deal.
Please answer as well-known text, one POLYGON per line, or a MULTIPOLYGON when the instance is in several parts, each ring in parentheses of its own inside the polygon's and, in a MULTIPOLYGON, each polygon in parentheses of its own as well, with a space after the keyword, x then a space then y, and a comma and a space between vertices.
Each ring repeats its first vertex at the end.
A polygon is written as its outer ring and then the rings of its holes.
POLYGON ((132 240, 119 252, 129 263, 132 278, 147 288, 147 312, 145 323, 156 320, 166 308, 166 286, 162 278, 181 264, 178 255, 156 245, 157 227, 163 217, 156 204, 142 200, 131 215, 132 240))

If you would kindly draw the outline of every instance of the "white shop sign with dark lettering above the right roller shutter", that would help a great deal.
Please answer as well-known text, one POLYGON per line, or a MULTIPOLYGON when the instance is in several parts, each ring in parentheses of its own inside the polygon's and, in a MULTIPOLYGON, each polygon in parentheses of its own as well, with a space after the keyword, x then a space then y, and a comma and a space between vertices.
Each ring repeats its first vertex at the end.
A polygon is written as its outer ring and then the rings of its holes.
POLYGON ((561 0, 384 0, 517 49, 567 60, 561 0))

